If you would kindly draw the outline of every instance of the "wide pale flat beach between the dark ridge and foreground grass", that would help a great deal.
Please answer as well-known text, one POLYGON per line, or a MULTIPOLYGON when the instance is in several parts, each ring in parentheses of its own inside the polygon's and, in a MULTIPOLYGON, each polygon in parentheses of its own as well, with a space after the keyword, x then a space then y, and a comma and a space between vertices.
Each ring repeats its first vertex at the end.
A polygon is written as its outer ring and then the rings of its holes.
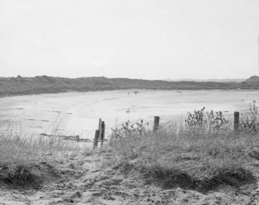
MULTIPOLYGON (((107 127, 154 115, 171 115, 163 116, 165 121, 181 120, 186 119, 188 111, 202 107, 206 110, 230 111, 224 115, 232 118, 236 109, 248 109, 253 100, 259 100, 258 91, 139 90, 137 95, 133 90, 70 92, 1 98, 0 118, 1 122, 9 120, 18 130, 21 127, 26 132, 51 134, 57 129, 62 135, 92 139, 99 118, 105 121, 107 127), (127 109, 130 113, 126 113, 127 109)), ((152 121, 153 118, 147 120, 152 121)))

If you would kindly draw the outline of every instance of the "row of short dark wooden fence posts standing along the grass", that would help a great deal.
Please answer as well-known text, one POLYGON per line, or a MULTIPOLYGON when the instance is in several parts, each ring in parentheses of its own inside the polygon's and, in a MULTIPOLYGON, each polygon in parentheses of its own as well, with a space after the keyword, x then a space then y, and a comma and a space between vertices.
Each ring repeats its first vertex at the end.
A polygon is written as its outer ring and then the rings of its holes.
MULTIPOLYGON (((158 131, 159 129, 159 116, 154 116, 154 127, 153 132, 158 131)), ((239 112, 234 112, 234 132, 239 132, 239 112)), ((99 119, 99 126, 98 130, 96 130, 95 136, 94 136, 94 148, 97 148, 98 141, 101 141, 101 146, 103 146, 103 141, 105 140, 105 122, 99 119), (100 140, 99 140, 100 139, 100 140)))

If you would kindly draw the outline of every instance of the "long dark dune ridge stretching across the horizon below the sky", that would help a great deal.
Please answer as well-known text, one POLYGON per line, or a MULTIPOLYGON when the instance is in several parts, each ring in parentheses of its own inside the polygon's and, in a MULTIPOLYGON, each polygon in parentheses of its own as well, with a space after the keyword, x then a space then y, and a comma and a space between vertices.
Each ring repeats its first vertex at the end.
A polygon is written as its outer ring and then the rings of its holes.
POLYGON ((152 90, 215 90, 258 89, 259 82, 195 82, 195 81, 148 81, 140 79, 108 79, 105 77, 83 77, 68 79, 60 77, 0 77, 0 96, 46 94, 58 92, 90 92, 101 90, 152 89, 152 90))

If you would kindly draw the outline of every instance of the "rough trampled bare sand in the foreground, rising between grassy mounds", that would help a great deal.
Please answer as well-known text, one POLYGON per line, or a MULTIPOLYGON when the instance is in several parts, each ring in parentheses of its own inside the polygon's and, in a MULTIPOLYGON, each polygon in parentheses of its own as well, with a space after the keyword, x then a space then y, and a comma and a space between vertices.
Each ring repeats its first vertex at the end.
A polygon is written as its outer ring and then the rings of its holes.
POLYGON ((56 175, 46 177, 37 189, 15 187, 1 182, 1 204, 256 204, 259 189, 256 184, 235 189, 221 184, 215 191, 200 193, 195 190, 163 189, 157 182, 141 177, 137 172, 121 172, 118 165, 102 166, 112 154, 59 152, 49 156, 41 169, 55 167, 56 175), (55 164, 55 166, 54 166, 55 164))

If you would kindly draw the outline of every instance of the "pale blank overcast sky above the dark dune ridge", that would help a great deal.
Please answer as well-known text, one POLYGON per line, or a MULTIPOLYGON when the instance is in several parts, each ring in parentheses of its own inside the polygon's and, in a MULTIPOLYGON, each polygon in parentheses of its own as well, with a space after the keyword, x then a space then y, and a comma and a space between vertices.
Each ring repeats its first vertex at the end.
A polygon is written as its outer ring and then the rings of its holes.
POLYGON ((0 0, 0 77, 248 79, 258 0, 0 0))

